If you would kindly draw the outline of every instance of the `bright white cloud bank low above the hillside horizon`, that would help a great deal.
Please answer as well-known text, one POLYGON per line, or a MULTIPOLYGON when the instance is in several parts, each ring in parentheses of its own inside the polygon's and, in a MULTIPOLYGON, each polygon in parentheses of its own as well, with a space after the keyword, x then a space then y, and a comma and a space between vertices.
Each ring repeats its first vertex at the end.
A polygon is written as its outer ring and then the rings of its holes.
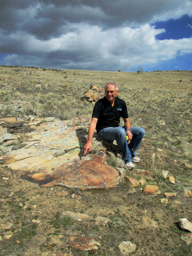
MULTIPOLYGON (((73 25, 72 25, 73 26, 73 25)), ((12 34, 17 44, 25 47, 24 54, 10 54, 6 65, 44 66, 74 69, 129 70, 137 65, 151 65, 192 53, 192 37, 158 41, 155 35, 163 29, 150 25, 140 28, 118 28, 102 31, 97 26, 76 24, 78 33, 41 41, 32 35, 12 34), (25 38, 25 43, 23 39, 25 38), (179 53, 178 53, 179 52, 179 53), (32 55, 33 58, 26 58, 32 55), (13 64, 14 63, 14 64, 13 64)))

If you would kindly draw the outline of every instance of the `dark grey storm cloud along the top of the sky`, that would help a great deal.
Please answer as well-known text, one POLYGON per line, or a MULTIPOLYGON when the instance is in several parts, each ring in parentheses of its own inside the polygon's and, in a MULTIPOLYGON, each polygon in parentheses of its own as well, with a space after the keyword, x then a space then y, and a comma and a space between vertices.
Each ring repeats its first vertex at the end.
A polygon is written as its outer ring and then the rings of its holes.
POLYGON ((180 5, 180 0, 2 0, 0 28, 7 33, 27 31, 47 40, 68 33, 69 23, 85 22, 102 30, 140 26, 180 5))

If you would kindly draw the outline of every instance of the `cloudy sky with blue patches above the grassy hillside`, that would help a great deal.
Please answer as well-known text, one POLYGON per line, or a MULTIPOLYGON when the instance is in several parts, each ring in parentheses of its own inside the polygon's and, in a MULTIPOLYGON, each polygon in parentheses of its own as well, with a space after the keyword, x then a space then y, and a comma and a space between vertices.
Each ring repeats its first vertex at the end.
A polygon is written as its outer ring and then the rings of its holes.
POLYGON ((192 70, 192 0, 1 0, 0 65, 192 70))

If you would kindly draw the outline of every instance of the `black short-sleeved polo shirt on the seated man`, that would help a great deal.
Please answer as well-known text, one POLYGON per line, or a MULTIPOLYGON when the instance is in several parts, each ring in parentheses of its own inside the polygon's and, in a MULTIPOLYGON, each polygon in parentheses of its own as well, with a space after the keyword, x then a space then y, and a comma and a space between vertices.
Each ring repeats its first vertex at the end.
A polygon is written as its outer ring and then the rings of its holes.
POLYGON ((111 103, 104 97, 95 103, 92 117, 98 118, 96 130, 99 132, 106 127, 118 127, 120 118, 128 118, 129 115, 124 100, 116 97, 112 107, 111 103))

